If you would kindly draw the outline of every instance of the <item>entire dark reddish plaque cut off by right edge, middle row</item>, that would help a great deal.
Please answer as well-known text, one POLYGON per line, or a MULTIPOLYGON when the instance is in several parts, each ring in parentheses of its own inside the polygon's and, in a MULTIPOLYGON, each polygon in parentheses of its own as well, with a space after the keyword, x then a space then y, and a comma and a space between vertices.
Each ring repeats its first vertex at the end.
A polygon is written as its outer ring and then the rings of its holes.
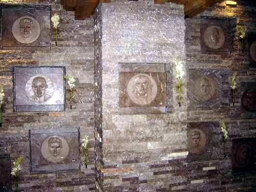
POLYGON ((256 118, 256 82, 242 82, 241 118, 256 118))

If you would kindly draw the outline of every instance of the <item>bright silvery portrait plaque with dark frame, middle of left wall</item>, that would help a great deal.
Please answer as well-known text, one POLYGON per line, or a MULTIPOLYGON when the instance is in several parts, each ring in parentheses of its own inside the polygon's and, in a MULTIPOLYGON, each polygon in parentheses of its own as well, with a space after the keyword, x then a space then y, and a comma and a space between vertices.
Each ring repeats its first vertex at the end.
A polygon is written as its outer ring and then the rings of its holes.
POLYGON ((13 112, 64 111, 65 110, 65 67, 13 67, 13 112), (43 78, 46 86, 43 96, 36 96, 33 88, 36 78, 43 78))

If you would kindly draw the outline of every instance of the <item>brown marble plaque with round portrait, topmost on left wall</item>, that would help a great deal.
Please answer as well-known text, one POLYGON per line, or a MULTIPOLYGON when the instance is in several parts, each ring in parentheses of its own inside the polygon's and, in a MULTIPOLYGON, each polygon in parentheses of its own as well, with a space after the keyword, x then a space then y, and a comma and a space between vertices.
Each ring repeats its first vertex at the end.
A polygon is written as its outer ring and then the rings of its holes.
POLYGON ((42 8, 2 9, 2 47, 49 47, 50 11, 42 8))

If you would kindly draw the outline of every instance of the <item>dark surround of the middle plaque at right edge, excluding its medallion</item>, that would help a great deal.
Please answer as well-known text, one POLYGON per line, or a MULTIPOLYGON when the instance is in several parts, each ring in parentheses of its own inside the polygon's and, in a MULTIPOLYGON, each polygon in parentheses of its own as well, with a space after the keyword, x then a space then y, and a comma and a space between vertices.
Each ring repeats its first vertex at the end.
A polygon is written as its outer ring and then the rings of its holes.
POLYGON ((243 95, 247 90, 256 90, 256 82, 241 82, 241 119, 254 119, 256 118, 256 106, 255 111, 249 111, 244 108, 243 95))

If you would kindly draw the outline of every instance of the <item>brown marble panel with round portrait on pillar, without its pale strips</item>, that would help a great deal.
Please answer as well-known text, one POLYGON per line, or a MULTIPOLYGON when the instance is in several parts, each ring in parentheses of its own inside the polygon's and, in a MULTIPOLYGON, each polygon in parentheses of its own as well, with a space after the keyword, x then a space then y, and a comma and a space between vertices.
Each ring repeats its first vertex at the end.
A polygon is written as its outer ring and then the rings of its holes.
POLYGON ((163 107, 165 105, 165 72, 119 72, 119 107, 163 107))

